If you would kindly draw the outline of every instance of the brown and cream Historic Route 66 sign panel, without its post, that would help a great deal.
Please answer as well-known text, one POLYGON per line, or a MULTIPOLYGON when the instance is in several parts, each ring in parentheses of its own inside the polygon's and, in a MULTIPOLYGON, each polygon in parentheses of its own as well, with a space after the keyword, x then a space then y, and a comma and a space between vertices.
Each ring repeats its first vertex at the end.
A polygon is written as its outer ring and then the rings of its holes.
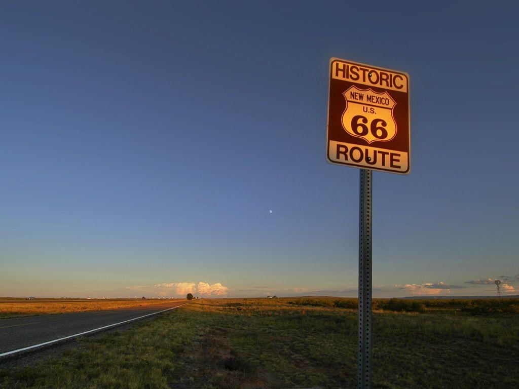
POLYGON ((326 160, 408 174, 407 73, 332 58, 329 89, 326 160))

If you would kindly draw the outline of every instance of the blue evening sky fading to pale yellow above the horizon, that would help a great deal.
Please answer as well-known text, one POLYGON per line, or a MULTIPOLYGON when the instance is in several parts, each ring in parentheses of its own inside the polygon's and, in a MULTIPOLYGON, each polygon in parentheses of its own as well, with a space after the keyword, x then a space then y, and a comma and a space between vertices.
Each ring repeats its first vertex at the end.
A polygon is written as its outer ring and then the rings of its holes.
POLYGON ((411 77, 411 174, 373 175, 374 296, 519 293, 498 3, 3 2, 0 296, 356 296, 331 57, 411 77))

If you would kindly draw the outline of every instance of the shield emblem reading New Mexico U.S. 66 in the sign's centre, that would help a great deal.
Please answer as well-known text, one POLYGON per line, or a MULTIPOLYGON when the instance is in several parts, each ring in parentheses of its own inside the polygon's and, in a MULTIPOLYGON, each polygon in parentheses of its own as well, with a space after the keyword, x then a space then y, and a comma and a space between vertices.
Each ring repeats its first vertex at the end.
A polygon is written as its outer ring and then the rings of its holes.
POLYGON ((350 87, 343 93, 346 109, 341 118, 343 128, 350 135, 367 143, 388 142, 397 134, 393 117, 395 101, 387 93, 350 87))

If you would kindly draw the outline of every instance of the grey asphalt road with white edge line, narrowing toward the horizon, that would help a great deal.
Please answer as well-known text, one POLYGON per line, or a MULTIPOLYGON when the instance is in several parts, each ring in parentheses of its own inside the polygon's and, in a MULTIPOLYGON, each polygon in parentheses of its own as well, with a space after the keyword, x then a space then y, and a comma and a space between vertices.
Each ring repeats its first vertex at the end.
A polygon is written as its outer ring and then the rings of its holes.
POLYGON ((182 302, 147 307, 0 319, 0 356, 36 344, 80 334, 136 317, 179 307, 182 302))

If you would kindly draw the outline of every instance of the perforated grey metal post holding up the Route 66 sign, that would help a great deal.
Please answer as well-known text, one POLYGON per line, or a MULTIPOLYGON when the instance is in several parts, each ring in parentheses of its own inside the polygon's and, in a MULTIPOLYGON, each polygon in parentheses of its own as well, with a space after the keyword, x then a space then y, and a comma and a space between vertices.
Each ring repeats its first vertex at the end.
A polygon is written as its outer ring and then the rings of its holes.
POLYGON ((372 171, 360 170, 359 204, 359 389, 371 388, 372 171))

